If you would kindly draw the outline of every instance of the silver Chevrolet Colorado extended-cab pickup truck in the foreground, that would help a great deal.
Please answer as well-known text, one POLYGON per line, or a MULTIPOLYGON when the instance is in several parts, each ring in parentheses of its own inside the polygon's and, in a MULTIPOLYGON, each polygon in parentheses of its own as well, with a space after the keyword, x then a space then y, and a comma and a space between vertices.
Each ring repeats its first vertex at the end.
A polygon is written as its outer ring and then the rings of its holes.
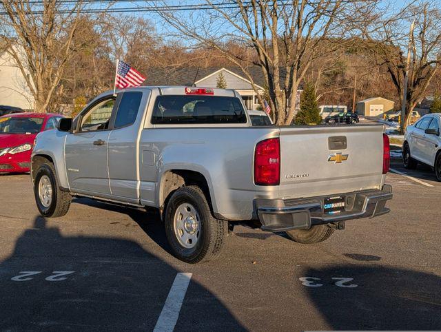
POLYGON ((234 90, 137 87, 96 97, 32 152, 37 207, 72 196, 158 209, 174 255, 214 258, 237 222, 315 243, 386 214, 382 125, 253 127, 234 90))

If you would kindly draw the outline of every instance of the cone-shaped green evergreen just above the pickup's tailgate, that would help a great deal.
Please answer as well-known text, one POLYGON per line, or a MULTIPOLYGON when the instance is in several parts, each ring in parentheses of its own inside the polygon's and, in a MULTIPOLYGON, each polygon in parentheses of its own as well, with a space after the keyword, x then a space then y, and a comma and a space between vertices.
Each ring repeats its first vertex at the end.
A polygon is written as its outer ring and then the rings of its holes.
POLYGON ((294 124, 319 125, 322 122, 320 110, 317 105, 316 89, 312 83, 306 83, 300 95, 300 111, 298 111, 294 124))

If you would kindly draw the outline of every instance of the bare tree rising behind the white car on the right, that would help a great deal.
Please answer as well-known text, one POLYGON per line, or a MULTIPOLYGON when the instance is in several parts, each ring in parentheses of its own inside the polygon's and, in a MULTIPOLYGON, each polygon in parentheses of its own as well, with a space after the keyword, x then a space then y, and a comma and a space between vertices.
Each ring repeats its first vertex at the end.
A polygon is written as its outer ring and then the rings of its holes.
POLYGON ((405 105, 405 123, 441 65, 441 8, 439 1, 418 1, 393 20, 385 19, 373 32, 365 33, 377 64, 387 68, 400 103, 403 103, 408 43, 410 65, 405 105), (409 26, 415 28, 409 34, 409 26))

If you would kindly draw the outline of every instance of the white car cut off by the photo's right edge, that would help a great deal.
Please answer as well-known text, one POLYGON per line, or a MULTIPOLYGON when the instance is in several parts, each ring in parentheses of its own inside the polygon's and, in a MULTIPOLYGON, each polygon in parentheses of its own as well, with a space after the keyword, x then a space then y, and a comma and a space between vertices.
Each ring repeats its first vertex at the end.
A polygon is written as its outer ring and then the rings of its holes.
POLYGON ((435 169, 436 178, 441 181, 441 113, 424 115, 404 133, 402 159, 404 167, 415 169, 417 163, 427 164, 435 169))

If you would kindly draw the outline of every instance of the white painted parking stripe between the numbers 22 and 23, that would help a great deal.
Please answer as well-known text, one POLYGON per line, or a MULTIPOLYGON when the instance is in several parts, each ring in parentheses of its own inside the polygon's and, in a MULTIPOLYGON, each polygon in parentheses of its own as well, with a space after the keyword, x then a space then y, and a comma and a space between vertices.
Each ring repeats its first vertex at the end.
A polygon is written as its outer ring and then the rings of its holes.
POLYGON ((165 300, 163 311, 161 311, 158 322, 156 322, 156 326, 154 326, 154 332, 174 330, 191 278, 192 273, 178 273, 176 275, 172 288, 168 293, 167 300, 165 300))

